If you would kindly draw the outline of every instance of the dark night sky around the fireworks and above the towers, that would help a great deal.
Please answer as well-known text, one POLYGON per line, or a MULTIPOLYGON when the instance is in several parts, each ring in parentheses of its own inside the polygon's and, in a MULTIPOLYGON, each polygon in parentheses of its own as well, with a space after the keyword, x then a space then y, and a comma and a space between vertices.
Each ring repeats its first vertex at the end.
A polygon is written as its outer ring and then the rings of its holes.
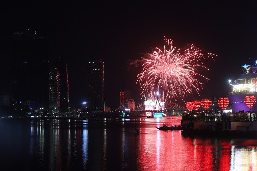
POLYGON ((128 72, 127 60, 162 48, 166 36, 177 48, 189 43, 218 55, 205 63, 210 81, 204 82, 200 97, 194 93, 186 99, 226 96, 228 79, 235 80, 248 58, 257 59, 256 7, 247 1, 5 3, 0 10, 1 65, 12 32, 36 30, 50 40, 50 60, 67 58, 71 106, 84 101, 85 59, 93 57, 105 62, 105 104, 116 109, 123 89, 132 91, 136 103, 142 102, 136 85, 140 69, 128 72))

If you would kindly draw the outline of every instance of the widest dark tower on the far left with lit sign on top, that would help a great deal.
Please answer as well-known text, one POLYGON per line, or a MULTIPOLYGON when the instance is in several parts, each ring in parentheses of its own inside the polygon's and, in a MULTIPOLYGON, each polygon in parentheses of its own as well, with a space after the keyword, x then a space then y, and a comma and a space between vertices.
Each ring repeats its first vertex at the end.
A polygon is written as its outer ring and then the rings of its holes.
POLYGON ((9 38, 8 71, 13 109, 45 108, 48 98, 49 42, 36 31, 13 32, 9 38))

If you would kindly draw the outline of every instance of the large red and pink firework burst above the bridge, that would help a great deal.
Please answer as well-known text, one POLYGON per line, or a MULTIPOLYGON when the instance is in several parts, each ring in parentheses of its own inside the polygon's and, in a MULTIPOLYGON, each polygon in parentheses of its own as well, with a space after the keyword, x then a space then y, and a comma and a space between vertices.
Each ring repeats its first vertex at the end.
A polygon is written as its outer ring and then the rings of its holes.
POLYGON ((146 54, 142 58, 143 69, 136 82, 140 84, 142 97, 156 101, 155 92, 159 91, 162 92, 161 101, 171 101, 192 94, 193 90, 199 94, 199 88, 203 85, 200 80, 209 80, 199 71, 208 70, 204 61, 209 57, 214 60, 213 56, 217 55, 202 52, 199 46, 193 45, 180 54, 180 49, 176 50, 176 47, 172 46, 173 39, 165 37, 165 40, 168 48, 164 46, 163 51, 155 48, 153 54, 146 54))

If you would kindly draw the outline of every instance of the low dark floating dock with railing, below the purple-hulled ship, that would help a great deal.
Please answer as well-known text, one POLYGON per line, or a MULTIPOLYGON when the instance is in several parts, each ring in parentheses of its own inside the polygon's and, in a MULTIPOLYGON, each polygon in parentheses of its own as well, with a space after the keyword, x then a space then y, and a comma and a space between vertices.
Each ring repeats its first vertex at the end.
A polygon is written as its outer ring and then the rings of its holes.
POLYGON ((257 138, 257 117, 182 116, 182 134, 214 137, 257 138))

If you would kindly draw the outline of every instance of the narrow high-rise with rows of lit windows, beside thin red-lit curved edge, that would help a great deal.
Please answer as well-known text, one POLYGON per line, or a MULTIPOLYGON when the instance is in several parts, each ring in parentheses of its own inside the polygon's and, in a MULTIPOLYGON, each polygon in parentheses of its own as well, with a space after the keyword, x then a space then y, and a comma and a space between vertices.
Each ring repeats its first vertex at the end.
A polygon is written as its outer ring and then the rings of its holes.
POLYGON ((60 76, 57 68, 49 67, 49 112, 60 110, 60 76))

